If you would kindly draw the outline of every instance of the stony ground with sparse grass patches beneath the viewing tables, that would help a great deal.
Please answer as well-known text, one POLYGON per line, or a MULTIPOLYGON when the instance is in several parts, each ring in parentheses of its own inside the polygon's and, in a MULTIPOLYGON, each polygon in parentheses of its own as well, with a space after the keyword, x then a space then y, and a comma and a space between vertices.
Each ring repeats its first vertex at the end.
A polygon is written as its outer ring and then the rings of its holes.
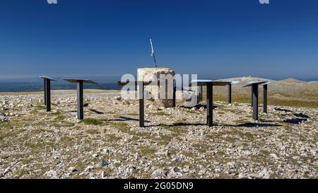
MULTIPOLYGON (((269 105, 252 120, 248 103, 160 109, 115 91, 0 96, 0 178, 317 178, 318 109, 269 105)), ((261 107, 260 107, 261 110, 261 107)))

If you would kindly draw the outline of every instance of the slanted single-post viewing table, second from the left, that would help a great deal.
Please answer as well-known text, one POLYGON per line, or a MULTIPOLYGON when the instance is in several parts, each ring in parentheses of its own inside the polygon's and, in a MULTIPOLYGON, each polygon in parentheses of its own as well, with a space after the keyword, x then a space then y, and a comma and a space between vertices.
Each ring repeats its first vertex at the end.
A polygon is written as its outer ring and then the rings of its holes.
POLYGON ((83 83, 87 83, 87 84, 97 84, 97 83, 88 79, 73 79, 73 78, 66 78, 64 79, 64 81, 77 84, 77 118, 80 120, 84 119, 83 83))

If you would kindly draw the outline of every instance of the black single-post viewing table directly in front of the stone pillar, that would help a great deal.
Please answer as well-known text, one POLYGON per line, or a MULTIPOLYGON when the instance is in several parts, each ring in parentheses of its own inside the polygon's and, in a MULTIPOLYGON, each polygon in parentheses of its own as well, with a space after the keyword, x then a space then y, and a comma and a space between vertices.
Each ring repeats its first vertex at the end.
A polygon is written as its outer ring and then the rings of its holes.
POLYGON ((144 107, 144 86, 151 84, 149 81, 118 81, 119 86, 134 86, 135 90, 138 87, 139 93, 139 127, 145 127, 145 107, 144 107))

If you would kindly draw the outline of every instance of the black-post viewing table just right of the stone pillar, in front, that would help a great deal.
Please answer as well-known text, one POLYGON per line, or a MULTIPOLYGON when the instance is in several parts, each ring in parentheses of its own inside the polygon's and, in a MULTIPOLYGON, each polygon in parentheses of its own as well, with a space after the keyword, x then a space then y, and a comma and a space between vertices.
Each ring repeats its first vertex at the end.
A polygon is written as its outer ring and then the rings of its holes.
POLYGON ((213 126, 213 81, 192 80, 191 86, 206 86, 206 123, 213 126))

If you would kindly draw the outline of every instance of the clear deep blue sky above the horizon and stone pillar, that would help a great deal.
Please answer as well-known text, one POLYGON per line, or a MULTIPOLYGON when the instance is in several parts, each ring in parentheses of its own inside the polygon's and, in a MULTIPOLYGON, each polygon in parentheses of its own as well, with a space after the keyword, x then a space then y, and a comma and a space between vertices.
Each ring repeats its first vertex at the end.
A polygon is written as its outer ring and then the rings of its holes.
POLYGON ((0 0, 0 77, 120 76, 153 66, 318 79, 318 1, 0 0))

